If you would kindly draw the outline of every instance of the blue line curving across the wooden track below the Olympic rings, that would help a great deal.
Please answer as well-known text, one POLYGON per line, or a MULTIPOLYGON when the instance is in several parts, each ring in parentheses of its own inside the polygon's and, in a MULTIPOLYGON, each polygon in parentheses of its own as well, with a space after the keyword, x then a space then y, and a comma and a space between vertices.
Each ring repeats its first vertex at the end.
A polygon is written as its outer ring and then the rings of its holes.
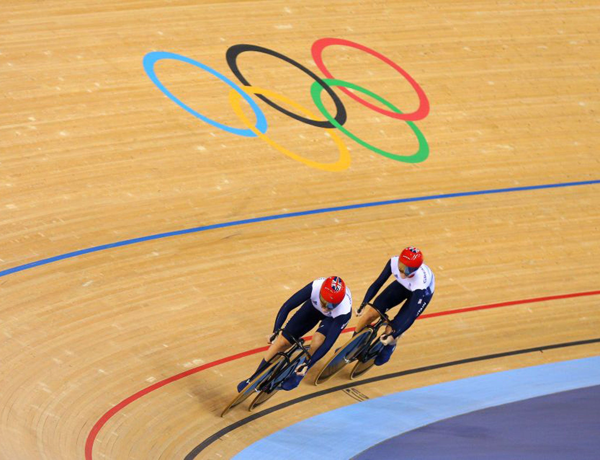
POLYGON ((539 189, 556 189, 558 187, 574 187, 584 186, 591 184, 599 184, 600 180, 580 181, 580 182, 565 182, 559 184, 542 184, 537 186, 526 186, 526 187, 510 187, 508 189, 492 189, 492 190, 476 190, 475 192, 457 192, 457 193, 443 193, 442 195, 428 195, 428 196, 415 196, 413 198, 398 198, 387 201, 373 201, 370 203, 359 203, 351 204, 347 206, 336 206, 332 208, 320 208, 308 211, 298 211, 296 213, 286 214, 274 214, 273 216, 254 217, 253 219, 242 219, 233 220, 231 222, 214 223, 212 225, 204 225, 200 227, 187 228, 184 230, 176 230, 173 232, 159 233, 155 235, 149 235, 148 237, 132 238, 131 240, 117 241, 116 243, 101 244, 101 246, 88 247, 74 252, 67 252, 47 259, 41 259, 35 262, 29 262, 29 264, 18 265, 17 267, 7 268, 6 270, 0 271, 0 277, 6 276, 7 274, 16 273, 17 271, 27 270, 28 268, 38 267, 39 265, 46 265, 52 262, 60 261, 62 259, 69 259, 71 257, 88 254, 91 252, 98 252, 105 249, 111 249, 113 247, 127 246, 128 244, 142 243, 142 241, 158 240, 160 238, 175 237, 177 235, 185 235, 187 233, 203 232, 206 230, 212 230, 215 228, 232 227, 236 225, 244 225, 245 223, 256 223, 265 222, 266 220, 277 220, 287 219, 287 217, 298 217, 308 216, 310 214, 322 214, 332 213, 334 211, 345 211, 350 209, 358 208, 370 208, 374 206, 385 206, 398 203, 409 203, 413 201, 430 201, 433 199, 445 199, 445 198, 457 198, 460 196, 473 196, 473 195, 491 195, 492 193, 508 193, 508 192, 523 192, 526 190, 539 190, 539 189))

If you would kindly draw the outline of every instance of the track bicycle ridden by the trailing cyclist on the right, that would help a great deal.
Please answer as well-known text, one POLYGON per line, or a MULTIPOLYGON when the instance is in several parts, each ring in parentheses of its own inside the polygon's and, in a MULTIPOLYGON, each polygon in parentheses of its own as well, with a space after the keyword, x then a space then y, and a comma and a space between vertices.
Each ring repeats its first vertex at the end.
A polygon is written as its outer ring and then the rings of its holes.
POLYGON ((354 380, 371 369, 375 364, 377 354, 382 350, 383 343, 380 342, 377 336, 377 331, 382 325, 389 325, 391 320, 385 313, 377 310, 373 304, 365 303, 365 305, 373 307, 379 313, 379 319, 374 324, 366 325, 361 331, 356 333, 344 345, 335 350, 334 355, 323 366, 323 369, 314 380, 315 385, 319 385, 335 374, 340 372, 344 366, 356 361, 355 366, 350 371, 350 379, 354 380))

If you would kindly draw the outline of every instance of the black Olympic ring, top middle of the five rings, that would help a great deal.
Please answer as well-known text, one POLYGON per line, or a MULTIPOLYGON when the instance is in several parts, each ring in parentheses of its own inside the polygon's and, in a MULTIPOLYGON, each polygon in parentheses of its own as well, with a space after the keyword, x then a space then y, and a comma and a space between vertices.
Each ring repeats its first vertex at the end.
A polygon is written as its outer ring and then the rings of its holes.
MULTIPOLYGON (((240 82, 242 82, 244 85, 252 86, 251 83, 248 82, 247 79, 245 79, 245 77, 242 75, 241 71, 239 71, 239 68, 238 68, 238 63, 237 63, 238 55, 240 55, 241 53, 243 53, 245 51, 256 51, 259 53, 265 53, 265 54, 274 56, 275 58, 279 58, 279 59, 282 59, 283 61, 289 62, 294 67, 302 70, 305 74, 310 75, 317 83, 319 83, 319 85, 323 86, 323 89, 325 89, 325 91, 327 91, 328 94, 333 99, 333 101, 335 103, 335 109, 337 110, 337 113, 335 114, 335 117, 334 117, 335 121, 337 121, 340 125, 343 125, 344 123, 346 123, 346 108, 344 107, 344 104, 342 103, 340 98, 337 96, 337 94, 335 94, 334 90, 331 89, 331 87, 327 83, 325 83, 322 79, 320 79, 319 76, 314 74, 310 69, 304 67, 304 65, 300 64, 299 62, 294 61, 292 58, 288 58, 287 56, 285 56, 281 53, 278 53, 277 51, 274 51, 274 50, 271 50, 268 48, 264 48, 262 46, 256 46, 254 44, 243 44, 243 43, 235 44, 235 45, 229 47, 229 49, 227 50, 227 53, 225 55, 227 58, 227 65, 229 65, 229 68, 231 69, 233 74, 235 74, 235 76, 238 77, 238 80, 240 82)), ((277 109, 280 112, 285 113, 288 117, 295 118, 296 120, 301 121, 302 123, 310 124, 311 126, 317 126, 319 128, 335 128, 335 126, 331 123, 331 121, 311 120, 311 118, 302 117, 301 115, 298 115, 297 113, 290 112, 289 110, 284 109, 281 106, 278 106, 273 101, 271 101, 268 97, 265 97, 262 94, 257 94, 256 96, 259 97, 260 99, 262 99, 263 101, 265 101, 267 104, 269 104, 274 109, 277 109)))

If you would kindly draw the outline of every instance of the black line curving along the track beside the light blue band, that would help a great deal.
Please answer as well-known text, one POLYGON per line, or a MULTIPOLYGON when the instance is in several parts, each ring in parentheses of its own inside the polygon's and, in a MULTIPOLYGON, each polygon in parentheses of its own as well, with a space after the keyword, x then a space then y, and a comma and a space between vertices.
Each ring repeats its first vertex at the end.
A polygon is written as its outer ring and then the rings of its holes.
POLYGON ((441 369, 441 368, 449 368, 451 366, 457 366, 466 363, 473 363, 477 361, 485 361, 488 359, 496 359, 502 358, 506 356, 515 356, 518 354, 526 354, 533 353, 534 351, 543 352, 544 350, 553 350, 554 348, 566 348, 566 347, 575 347, 577 345, 587 345, 588 343, 597 343, 600 342, 600 337, 596 339, 587 339, 587 340, 578 340, 577 342, 564 342, 564 343, 553 343, 552 345, 542 345, 541 347, 533 347, 533 348, 523 348, 521 350, 512 350, 505 351, 503 353, 494 353, 487 354, 484 356, 475 356, 472 358, 460 359, 456 361, 449 361, 447 363, 434 364, 431 366, 424 366, 422 368, 415 369, 407 369, 406 371, 393 372, 392 374, 379 375, 377 377, 365 378, 364 380, 353 380, 350 383, 346 383, 343 385, 338 385, 337 387, 331 387, 325 390, 320 390, 319 392, 310 393, 308 395, 300 396, 299 398, 290 399, 290 401, 282 402, 273 407, 269 407, 268 409, 262 410, 260 412, 254 413, 251 416, 245 417, 245 419, 238 420, 231 425, 226 426, 225 428, 220 429, 215 434, 210 435, 206 438, 202 443, 198 444, 194 449, 188 453, 184 460, 193 460, 196 456, 202 452, 202 450, 206 449, 206 447, 210 446, 214 441, 221 438, 223 435, 239 428, 240 426, 244 426, 247 423, 252 422, 253 420, 260 419, 260 417, 267 416, 272 414, 280 409, 284 409, 286 407, 290 407, 294 404, 298 404, 299 402, 308 401, 308 399, 318 398, 319 396, 327 395, 328 393, 334 393, 339 390, 344 390, 350 387, 356 387, 359 385, 365 385, 368 383, 378 382, 380 380, 387 380, 388 378, 402 377, 403 375, 409 374, 418 374, 419 372, 425 371, 433 371, 433 369, 441 369))

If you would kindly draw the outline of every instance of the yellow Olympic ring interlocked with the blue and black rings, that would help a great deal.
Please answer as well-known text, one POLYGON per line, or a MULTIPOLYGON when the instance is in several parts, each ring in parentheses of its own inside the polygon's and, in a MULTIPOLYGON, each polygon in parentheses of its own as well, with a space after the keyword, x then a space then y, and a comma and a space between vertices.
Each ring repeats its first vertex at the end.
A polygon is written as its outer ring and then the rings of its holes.
MULTIPOLYGON (((296 110, 301 111, 307 117, 310 117, 313 120, 318 120, 318 118, 315 117, 313 113, 306 107, 301 106, 296 101, 293 101, 284 95, 277 94, 276 92, 273 92, 269 89, 257 88, 257 86, 242 86, 242 88, 244 90, 247 90, 248 92, 251 92, 252 94, 263 94, 268 96, 269 98, 280 100, 281 102, 294 107, 296 110)), ((253 126, 250 119, 246 117, 246 115, 242 111, 242 106, 240 104, 241 98, 241 94, 235 91, 235 89, 231 89, 229 91, 229 103, 231 104, 233 111, 236 113, 236 115, 238 115, 239 119, 242 121, 242 123, 244 123, 246 127, 248 127, 248 129, 252 130, 254 134, 256 134, 260 139, 271 145, 271 147, 276 148, 278 151, 290 157, 291 159, 296 160, 297 162, 304 163, 307 166, 311 166, 311 168, 323 169, 323 171, 343 171, 344 169, 347 169, 348 166, 350 166, 350 153, 348 151, 348 148, 346 147, 346 144, 344 144, 344 142, 341 140, 340 136, 338 136, 337 132, 335 132, 335 129, 327 129, 325 131, 327 132, 329 137, 335 142, 335 145, 337 145, 338 150, 340 151, 340 158, 335 163, 314 162, 313 160, 309 160, 307 158, 299 156, 296 153, 293 153, 290 150, 287 150, 287 148, 283 147, 283 145, 277 144, 277 142, 273 141, 271 138, 269 138, 269 136, 266 136, 265 134, 257 130, 256 127, 253 126)))

